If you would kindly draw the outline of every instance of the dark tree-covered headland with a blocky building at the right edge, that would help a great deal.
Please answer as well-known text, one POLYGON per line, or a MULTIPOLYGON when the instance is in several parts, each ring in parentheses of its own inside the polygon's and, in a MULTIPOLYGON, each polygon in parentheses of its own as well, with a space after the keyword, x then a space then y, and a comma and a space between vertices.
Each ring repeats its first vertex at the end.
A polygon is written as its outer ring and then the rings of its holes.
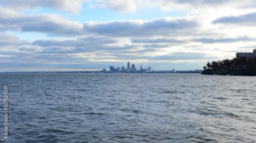
POLYGON ((256 49, 253 52, 238 52, 236 58, 212 61, 204 66, 201 74, 206 75, 256 75, 256 49))

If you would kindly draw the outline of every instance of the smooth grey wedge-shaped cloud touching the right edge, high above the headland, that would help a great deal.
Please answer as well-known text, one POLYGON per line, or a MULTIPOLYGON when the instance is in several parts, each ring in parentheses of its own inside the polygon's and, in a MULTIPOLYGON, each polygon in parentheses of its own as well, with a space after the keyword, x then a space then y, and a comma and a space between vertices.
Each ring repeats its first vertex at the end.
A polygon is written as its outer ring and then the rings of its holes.
POLYGON ((223 24, 235 24, 235 25, 245 25, 245 26, 255 26, 256 13, 248 13, 239 16, 225 16, 220 17, 212 23, 223 23, 223 24))

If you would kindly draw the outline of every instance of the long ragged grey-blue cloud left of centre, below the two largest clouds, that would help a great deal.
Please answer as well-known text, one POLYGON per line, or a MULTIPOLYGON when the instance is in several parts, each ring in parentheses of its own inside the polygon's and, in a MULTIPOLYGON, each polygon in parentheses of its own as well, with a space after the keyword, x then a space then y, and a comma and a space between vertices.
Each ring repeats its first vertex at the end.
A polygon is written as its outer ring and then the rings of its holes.
POLYGON ((116 53, 146 52, 145 50, 138 49, 136 45, 120 46, 117 40, 106 37, 88 37, 77 40, 36 40, 31 45, 43 48, 41 51, 36 52, 36 54, 54 54, 65 51, 68 54, 95 55, 94 59, 101 57, 102 53, 110 55, 116 53))

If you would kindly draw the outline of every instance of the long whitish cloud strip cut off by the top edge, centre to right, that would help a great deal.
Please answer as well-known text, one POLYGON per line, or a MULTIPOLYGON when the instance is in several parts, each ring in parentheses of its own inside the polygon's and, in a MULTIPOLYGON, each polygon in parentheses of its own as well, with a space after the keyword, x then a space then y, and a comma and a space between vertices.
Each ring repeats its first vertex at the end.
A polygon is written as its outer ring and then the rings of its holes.
MULTIPOLYGON (((89 1, 90 8, 109 8, 118 12, 130 12, 134 13, 138 11, 138 9, 160 9, 162 11, 188 11, 195 9, 203 9, 203 8, 218 8, 220 6, 229 6, 230 2, 240 2, 238 0, 197 0, 197 1, 189 1, 189 0, 161 0, 161 1, 152 1, 152 0, 94 0, 89 1)), ((250 2, 253 4, 253 2, 250 2)), ((240 2, 241 4, 241 2, 240 2)), ((241 6, 243 3, 241 4, 241 6)), ((245 5, 245 4, 244 4, 245 5)), ((233 5, 232 5, 233 6, 233 5)))

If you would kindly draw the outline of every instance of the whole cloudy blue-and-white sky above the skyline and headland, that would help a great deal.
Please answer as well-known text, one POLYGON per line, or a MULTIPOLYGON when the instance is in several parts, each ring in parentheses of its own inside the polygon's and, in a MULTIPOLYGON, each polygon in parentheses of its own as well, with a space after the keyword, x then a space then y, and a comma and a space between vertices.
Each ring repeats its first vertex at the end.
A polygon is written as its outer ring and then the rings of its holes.
POLYGON ((202 69, 255 31, 252 0, 0 0, 0 72, 202 69))

